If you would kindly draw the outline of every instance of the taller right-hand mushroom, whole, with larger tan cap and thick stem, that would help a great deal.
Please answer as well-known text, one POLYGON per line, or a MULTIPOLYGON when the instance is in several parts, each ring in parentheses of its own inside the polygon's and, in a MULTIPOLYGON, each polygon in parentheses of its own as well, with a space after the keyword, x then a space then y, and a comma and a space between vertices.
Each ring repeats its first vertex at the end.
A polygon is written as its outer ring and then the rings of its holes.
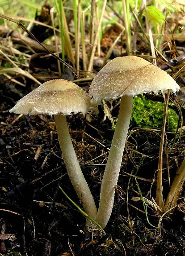
POLYGON ((100 203, 96 216, 96 221, 102 228, 107 225, 113 208, 114 186, 118 182, 133 97, 146 92, 166 93, 168 90, 175 93, 179 90, 179 85, 165 71, 135 56, 113 59, 99 71, 92 81, 89 96, 93 104, 102 104, 103 100, 109 101, 122 97, 101 184, 100 203))

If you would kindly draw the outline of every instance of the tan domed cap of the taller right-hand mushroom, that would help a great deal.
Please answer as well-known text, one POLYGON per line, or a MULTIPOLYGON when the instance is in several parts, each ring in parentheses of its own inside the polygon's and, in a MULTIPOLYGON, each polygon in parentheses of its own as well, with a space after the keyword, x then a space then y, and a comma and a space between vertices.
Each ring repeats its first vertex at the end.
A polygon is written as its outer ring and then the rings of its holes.
POLYGON ((92 103, 135 96, 141 93, 175 93, 179 85, 170 75, 143 58, 117 57, 108 62, 92 80, 89 96, 92 103))

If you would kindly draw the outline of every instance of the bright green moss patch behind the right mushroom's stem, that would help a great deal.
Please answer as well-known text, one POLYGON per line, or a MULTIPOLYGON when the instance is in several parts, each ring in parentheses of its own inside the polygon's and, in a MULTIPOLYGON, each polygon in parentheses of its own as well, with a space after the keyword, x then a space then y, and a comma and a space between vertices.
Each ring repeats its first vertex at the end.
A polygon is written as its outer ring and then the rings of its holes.
MULTIPOLYGON (((169 103, 172 106, 172 103, 169 103)), ((134 97, 133 110, 130 119, 130 127, 162 128, 164 116, 164 103, 147 100, 143 95, 134 97)), ((117 119, 115 120, 115 129, 117 119)), ((166 130, 175 132, 177 130, 178 115, 168 107, 166 130)))

